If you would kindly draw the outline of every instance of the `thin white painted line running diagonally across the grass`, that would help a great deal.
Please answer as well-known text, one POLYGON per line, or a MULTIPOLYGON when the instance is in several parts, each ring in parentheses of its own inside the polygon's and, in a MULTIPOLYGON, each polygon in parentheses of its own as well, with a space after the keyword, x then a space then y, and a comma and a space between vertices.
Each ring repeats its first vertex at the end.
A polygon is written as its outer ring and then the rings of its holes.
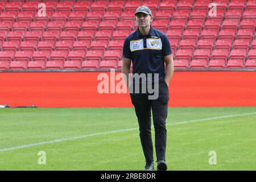
MULTIPOLYGON (((222 118, 230 118, 230 117, 237 117, 237 116, 243 116, 243 115, 253 115, 253 114, 256 114, 256 112, 255 113, 245 113, 245 114, 235 114, 235 115, 224 115, 224 116, 221 116, 221 117, 214 117, 214 118, 195 119, 195 120, 191 120, 191 121, 169 123, 167 125, 180 125, 180 124, 184 124, 184 123, 193 123, 193 122, 199 122, 199 121, 209 121, 209 120, 213 120, 213 119, 222 119, 222 118)), ((123 130, 106 131, 106 132, 102 132, 102 133, 94 133, 94 134, 89 134, 89 135, 82 135, 82 136, 79 136, 79 137, 60 138, 60 139, 56 139, 56 140, 52 140, 52 141, 47 141, 47 142, 25 144, 23 146, 3 148, 3 149, 0 150, 0 152, 11 151, 11 150, 20 149, 20 148, 28 148, 28 147, 33 147, 33 146, 40 146, 40 145, 43 145, 43 144, 58 143, 58 142, 63 142, 63 141, 68 141, 68 140, 81 139, 81 138, 86 138, 86 137, 94 137, 94 136, 97 136, 97 135, 121 133, 121 132, 134 131, 134 130, 138 130, 138 127, 134 128, 134 129, 123 129, 123 130)))

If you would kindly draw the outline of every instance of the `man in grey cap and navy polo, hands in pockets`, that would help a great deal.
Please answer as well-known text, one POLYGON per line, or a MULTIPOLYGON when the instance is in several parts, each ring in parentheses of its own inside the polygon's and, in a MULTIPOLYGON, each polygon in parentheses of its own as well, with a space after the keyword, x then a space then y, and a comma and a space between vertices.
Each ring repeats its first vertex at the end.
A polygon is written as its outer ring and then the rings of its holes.
POLYGON ((174 72, 174 60, 166 34, 153 28, 150 25, 152 20, 151 10, 147 6, 138 7, 135 13, 138 30, 127 36, 123 44, 122 73, 129 87, 131 102, 138 118, 139 136, 146 159, 144 169, 154 170, 151 138, 152 109, 157 169, 165 171, 167 169, 168 85, 174 72), (131 61, 133 61, 133 76, 129 79, 131 61), (144 92, 145 85, 146 92, 144 92), (157 94, 154 93, 158 96, 156 98, 150 98, 153 87, 154 92, 158 92, 157 94))

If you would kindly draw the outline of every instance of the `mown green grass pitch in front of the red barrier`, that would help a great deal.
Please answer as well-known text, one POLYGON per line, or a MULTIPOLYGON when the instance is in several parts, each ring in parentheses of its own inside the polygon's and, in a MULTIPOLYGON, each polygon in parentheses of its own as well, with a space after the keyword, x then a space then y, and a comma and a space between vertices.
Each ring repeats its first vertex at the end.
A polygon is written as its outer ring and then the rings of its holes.
MULTIPOLYGON (((168 170, 256 170, 256 107, 171 107, 167 135, 168 170)), ((0 109, 0 141, 0 170, 144 168, 134 108, 0 109)))

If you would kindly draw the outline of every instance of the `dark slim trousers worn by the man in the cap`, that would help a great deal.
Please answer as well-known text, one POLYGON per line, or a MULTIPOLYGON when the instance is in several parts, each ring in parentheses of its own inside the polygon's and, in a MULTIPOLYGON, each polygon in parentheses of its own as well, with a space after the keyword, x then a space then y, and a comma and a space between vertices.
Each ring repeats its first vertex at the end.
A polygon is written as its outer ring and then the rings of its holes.
POLYGON ((159 82, 159 97, 148 100, 148 93, 130 93, 131 102, 139 123, 139 136, 147 163, 154 161, 151 138, 151 109, 155 128, 155 151, 157 160, 166 159, 166 118, 169 90, 166 82, 159 82))

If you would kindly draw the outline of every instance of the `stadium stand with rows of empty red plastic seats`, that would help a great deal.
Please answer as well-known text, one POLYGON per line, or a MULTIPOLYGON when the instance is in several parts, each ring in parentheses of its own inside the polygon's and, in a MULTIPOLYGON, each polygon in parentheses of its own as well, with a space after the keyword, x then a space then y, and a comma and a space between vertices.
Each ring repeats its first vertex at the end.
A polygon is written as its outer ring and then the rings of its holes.
POLYGON ((0 0, 0 71, 120 71, 141 5, 167 34, 175 70, 256 69, 254 0, 0 0))

